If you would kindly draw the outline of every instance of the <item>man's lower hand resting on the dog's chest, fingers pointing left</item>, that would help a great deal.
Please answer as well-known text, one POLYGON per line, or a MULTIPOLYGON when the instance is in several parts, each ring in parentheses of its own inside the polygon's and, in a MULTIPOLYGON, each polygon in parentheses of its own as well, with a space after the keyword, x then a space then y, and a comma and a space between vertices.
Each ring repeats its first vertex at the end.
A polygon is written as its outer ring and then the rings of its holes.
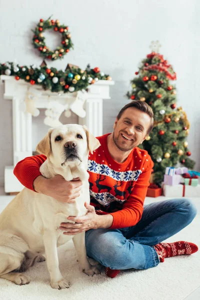
POLYGON ((82 231, 97 228, 109 228, 112 225, 113 217, 111 214, 98 215, 92 205, 84 203, 87 213, 82 216, 68 216, 67 220, 75 223, 61 223, 59 229, 63 230, 63 234, 75 235, 82 231))

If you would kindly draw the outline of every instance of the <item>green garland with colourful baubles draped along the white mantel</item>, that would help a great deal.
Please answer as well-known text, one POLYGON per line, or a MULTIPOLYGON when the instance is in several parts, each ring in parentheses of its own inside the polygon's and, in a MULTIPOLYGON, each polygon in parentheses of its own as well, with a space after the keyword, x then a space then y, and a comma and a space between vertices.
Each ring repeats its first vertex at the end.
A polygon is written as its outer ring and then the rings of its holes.
POLYGON ((49 89, 52 92, 86 90, 88 85, 97 80, 112 80, 98 67, 91 69, 89 64, 85 70, 67 64, 65 71, 62 71, 55 67, 48 68, 44 60, 40 66, 19 66, 13 62, 0 63, 0 74, 15 76, 16 80, 23 79, 32 85, 39 84, 44 90, 49 89))

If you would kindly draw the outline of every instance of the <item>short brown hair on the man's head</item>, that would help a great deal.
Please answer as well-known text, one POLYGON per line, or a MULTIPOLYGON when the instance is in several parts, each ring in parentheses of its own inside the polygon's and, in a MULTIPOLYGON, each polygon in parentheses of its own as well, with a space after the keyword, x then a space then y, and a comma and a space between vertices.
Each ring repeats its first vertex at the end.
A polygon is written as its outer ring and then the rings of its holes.
POLYGON ((129 108, 129 107, 135 107, 135 108, 147 113, 151 117, 151 123, 150 123, 150 126, 147 130, 147 133, 146 133, 146 135, 148 135, 150 133, 150 131, 152 130, 152 128, 153 128, 153 122, 154 122, 154 114, 153 114, 152 108, 144 101, 133 100, 133 101, 131 101, 130 103, 126 104, 125 106, 123 106, 121 108, 121 110, 117 114, 116 118, 120 119, 123 111, 125 109, 129 108))

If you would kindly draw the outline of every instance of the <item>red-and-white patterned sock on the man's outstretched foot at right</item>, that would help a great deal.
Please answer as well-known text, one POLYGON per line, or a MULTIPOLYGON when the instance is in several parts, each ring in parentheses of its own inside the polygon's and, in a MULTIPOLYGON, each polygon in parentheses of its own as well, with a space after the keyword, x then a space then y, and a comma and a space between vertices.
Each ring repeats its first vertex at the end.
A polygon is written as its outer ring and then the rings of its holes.
POLYGON ((166 257, 190 255, 198 251, 197 245, 182 240, 171 243, 161 242, 153 247, 158 254, 160 262, 163 262, 166 257))

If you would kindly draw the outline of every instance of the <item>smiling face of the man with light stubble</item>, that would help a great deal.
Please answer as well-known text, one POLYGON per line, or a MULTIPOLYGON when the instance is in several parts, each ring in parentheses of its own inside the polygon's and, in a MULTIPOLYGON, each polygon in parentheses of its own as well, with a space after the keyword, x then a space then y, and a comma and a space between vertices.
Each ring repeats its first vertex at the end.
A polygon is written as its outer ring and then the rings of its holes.
POLYGON ((129 151, 142 143, 150 126, 150 116, 135 107, 125 109, 114 122, 113 141, 121 151, 129 151))

